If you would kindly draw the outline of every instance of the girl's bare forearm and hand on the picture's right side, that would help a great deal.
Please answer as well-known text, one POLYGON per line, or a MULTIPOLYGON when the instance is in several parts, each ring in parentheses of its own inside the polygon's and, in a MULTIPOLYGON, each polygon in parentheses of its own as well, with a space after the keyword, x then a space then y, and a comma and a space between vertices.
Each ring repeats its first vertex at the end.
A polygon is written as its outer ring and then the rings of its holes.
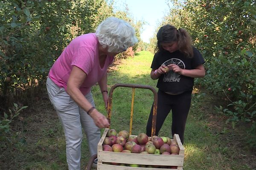
POLYGON ((205 70, 204 70, 203 64, 198 65, 195 69, 192 69, 192 70, 181 69, 176 64, 170 64, 168 65, 168 67, 172 69, 172 71, 174 71, 175 73, 178 73, 187 77, 199 78, 199 77, 205 76, 205 70))

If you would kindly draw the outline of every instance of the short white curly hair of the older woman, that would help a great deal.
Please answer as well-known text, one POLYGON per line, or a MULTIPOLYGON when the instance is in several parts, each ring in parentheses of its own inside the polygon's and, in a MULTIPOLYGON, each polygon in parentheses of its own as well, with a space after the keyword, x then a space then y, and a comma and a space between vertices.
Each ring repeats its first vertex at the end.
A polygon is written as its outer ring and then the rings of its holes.
POLYGON ((102 21, 96 29, 96 36, 103 48, 108 47, 108 52, 126 51, 128 47, 138 42, 134 28, 116 17, 102 21))

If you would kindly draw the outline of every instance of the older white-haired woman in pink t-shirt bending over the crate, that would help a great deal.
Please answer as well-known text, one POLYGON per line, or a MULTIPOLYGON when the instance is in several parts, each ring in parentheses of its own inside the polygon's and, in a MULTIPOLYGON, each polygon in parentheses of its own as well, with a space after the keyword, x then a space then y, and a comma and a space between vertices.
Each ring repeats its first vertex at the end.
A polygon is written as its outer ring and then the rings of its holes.
POLYGON ((80 170, 81 127, 92 156, 97 153, 100 128, 109 126, 108 119, 95 108, 90 88, 98 82, 107 107, 107 68, 116 54, 136 42, 130 24, 110 17, 99 24, 96 33, 72 40, 52 65, 47 92, 64 129, 69 170, 80 170))

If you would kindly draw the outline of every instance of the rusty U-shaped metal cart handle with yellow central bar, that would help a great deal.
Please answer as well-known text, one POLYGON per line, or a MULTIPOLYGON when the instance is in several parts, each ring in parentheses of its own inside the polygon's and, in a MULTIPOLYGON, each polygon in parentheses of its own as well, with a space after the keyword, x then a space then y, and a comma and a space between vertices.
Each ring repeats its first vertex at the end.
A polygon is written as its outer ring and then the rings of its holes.
POLYGON ((131 103, 131 119, 130 119, 130 135, 131 135, 131 127, 132 127, 132 117, 133 117, 133 102, 134 102, 134 93, 135 88, 144 88, 149 89, 154 94, 154 104, 153 104, 153 117, 152 117, 152 130, 151 130, 151 136, 154 136, 156 133, 156 119, 157 119, 157 91, 151 87, 150 85, 137 85, 137 84, 123 84, 123 83, 117 83, 113 85, 109 91, 109 98, 108 98, 108 119, 111 119, 111 109, 112 109, 112 96, 113 91, 117 87, 127 87, 127 88, 133 88, 132 91, 132 103, 131 103))

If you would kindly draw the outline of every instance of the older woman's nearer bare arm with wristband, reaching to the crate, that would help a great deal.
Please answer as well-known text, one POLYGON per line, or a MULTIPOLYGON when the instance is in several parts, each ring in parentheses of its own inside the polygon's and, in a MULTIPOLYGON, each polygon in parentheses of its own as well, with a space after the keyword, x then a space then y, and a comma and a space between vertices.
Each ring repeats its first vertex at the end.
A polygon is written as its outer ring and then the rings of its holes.
MULTIPOLYGON (((84 73, 80 68, 73 66, 70 77, 67 82, 67 94, 79 105, 84 111, 88 112, 93 106, 90 102, 84 97, 80 91, 80 86, 84 82, 87 74, 84 73)), ((95 122, 96 126, 103 128, 109 127, 108 119, 102 114, 99 113, 96 109, 93 109, 88 113, 95 122)))

